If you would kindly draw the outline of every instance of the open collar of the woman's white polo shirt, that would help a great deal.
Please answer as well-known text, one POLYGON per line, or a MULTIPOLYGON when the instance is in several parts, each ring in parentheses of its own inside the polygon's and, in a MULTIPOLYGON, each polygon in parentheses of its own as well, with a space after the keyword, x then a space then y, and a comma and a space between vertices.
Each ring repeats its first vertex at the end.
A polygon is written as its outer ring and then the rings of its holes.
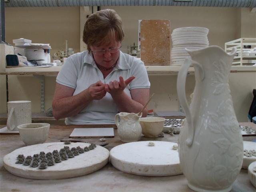
MULTIPOLYGON (((94 58, 91 54, 89 54, 88 51, 86 51, 85 55, 84 55, 84 64, 91 64, 94 67, 96 66, 96 63, 94 61, 94 58)), ((117 65, 116 67, 117 69, 122 69, 122 70, 128 70, 130 69, 130 65, 128 64, 128 61, 126 60, 126 57, 124 56, 124 53, 122 51, 120 51, 119 54, 119 58, 117 60, 117 65)))

